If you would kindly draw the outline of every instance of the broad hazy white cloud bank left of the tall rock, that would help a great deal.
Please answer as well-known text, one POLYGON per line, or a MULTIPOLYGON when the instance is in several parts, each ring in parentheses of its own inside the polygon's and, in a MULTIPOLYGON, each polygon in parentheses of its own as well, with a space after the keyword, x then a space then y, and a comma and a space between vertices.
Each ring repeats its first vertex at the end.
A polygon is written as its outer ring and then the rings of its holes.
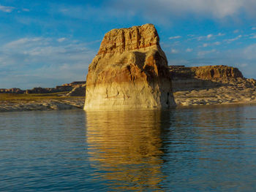
POLYGON ((0 87, 53 87, 59 82, 85 80, 96 52, 89 49, 86 43, 73 40, 66 39, 59 44, 53 38, 34 37, 1 45, 0 87), (4 71, 7 72, 3 74, 4 71))

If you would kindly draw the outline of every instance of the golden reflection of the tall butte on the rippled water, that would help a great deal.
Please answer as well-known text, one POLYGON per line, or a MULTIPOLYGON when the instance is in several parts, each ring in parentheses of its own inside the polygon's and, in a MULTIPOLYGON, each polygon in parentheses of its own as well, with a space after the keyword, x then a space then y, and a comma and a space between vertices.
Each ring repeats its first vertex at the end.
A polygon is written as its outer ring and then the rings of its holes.
MULTIPOLYGON (((118 190, 161 190, 160 111, 86 112, 91 163, 118 190)), ((169 128, 169 126, 167 126, 169 128)))

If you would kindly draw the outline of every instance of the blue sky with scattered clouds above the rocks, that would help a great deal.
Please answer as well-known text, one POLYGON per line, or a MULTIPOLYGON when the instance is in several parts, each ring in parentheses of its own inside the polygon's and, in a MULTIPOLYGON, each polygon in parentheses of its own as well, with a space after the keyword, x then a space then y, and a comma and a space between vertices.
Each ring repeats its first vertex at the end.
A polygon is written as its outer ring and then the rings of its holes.
POLYGON ((256 78, 255 0, 1 0, 0 88, 86 80, 104 34, 154 23, 169 65, 256 78))

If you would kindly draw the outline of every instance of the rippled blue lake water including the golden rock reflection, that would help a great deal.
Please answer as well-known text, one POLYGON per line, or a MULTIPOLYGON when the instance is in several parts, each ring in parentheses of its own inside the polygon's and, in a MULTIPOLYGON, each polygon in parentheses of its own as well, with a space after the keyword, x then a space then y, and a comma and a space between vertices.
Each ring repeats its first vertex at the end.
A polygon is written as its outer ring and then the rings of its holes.
POLYGON ((0 113, 0 191, 256 191, 256 106, 0 113))

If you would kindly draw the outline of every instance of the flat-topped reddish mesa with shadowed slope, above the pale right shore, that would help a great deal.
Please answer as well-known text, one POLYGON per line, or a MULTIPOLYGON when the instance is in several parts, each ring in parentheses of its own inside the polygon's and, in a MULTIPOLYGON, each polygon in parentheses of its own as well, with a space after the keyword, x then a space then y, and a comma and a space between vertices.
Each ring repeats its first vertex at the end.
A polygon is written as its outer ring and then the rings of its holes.
POLYGON ((239 69, 232 66, 169 66, 173 91, 216 88, 222 85, 252 85, 239 69))

